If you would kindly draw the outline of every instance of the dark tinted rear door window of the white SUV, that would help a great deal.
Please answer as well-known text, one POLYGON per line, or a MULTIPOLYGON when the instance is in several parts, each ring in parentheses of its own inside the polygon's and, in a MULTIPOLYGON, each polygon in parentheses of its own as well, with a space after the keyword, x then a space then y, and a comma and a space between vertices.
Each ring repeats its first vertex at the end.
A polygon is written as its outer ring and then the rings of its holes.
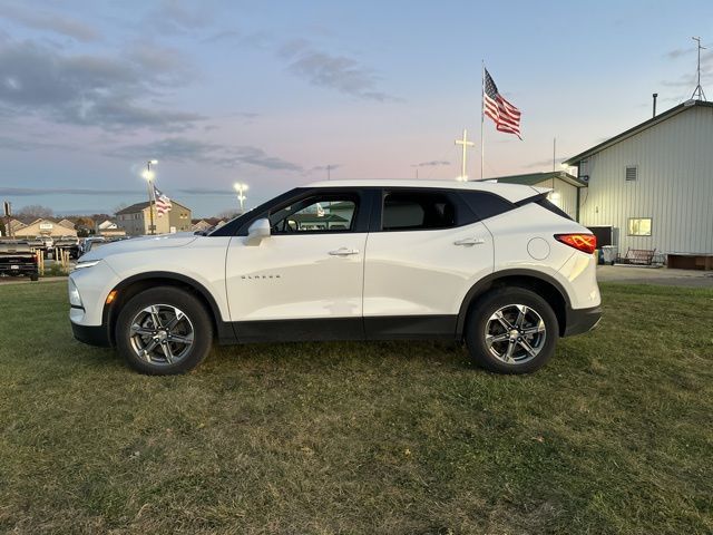
POLYGON ((456 206, 433 192, 392 192, 383 201, 383 231, 426 231, 456 226, 456 206))

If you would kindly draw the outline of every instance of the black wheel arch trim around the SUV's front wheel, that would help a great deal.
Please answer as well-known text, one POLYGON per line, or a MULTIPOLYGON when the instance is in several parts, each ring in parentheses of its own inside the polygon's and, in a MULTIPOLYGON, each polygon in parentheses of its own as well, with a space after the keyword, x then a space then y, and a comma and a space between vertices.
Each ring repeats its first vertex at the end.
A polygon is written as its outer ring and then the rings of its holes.
POLYGON ((229 340, 235 338, 229 323, 222 321, 221 309, 211 292, 198 281, 180 273, 153 271, 129 276, 114 286, 116 299, 110 304, 104 305, 102 323, 107 325, 109 341, 116 346, 116 321, 121 307, 134 295, 157 286, 173 286, 192 293, 205 307, 213 324, 213 332, 218 340, 229 340))

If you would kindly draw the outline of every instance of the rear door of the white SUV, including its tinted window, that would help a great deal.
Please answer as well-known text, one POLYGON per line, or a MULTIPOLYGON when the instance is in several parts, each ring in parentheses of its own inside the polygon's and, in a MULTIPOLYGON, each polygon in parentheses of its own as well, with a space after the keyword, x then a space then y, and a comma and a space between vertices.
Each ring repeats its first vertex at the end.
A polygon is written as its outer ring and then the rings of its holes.
POLYGON ((457 191, 384 189, 364 265, 368 338, 455 332, 462 300, 492 272, 488 228, 457 191))

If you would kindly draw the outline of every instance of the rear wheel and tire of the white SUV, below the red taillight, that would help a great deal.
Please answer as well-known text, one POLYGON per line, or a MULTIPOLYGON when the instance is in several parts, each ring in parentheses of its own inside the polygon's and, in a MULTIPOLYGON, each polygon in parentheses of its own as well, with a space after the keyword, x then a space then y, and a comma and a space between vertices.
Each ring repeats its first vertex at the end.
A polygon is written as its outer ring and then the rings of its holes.
POLYGON ((540 369, 554 354, 558 338, 559 323, 549 303, 518 286, 488 292, 475 304, 466 324, 471 360, 497 373, 540 369))

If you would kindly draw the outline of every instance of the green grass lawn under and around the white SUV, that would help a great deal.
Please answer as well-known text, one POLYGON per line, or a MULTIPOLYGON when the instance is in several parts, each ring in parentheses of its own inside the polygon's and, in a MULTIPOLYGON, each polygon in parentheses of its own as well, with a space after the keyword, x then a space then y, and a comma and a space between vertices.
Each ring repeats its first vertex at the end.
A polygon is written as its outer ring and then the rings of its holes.
POLYGON ((713 531, 713 292, 603 285, 529 377, 443 343, 217 348, 149 378, 0 286, 0 532, 713 531))

